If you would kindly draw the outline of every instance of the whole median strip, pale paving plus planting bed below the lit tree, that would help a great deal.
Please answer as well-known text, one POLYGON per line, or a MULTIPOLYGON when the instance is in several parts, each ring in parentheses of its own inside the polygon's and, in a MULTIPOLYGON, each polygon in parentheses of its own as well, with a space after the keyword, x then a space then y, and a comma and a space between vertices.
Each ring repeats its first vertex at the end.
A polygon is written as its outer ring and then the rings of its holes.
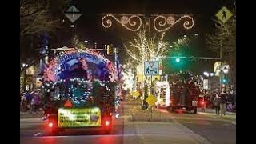
MULTIPOLYGON (((150 110, 141 110, 141 105, 134 103, 132 105, 126 103, 125 105, 125 111, 127 110, 125 115, 130 115, 130 119, 125 122, 125 130, 126 126, 132 125, 135 127, 134 132, 138 137, 137 143, 210 143, 206 138, 195 134, 194 131, 155 108, 152 110, 152 119, 150 119, 150 110)), ((130 142, 126 141, 125 138, 124 143, 128 144, 130 142)))

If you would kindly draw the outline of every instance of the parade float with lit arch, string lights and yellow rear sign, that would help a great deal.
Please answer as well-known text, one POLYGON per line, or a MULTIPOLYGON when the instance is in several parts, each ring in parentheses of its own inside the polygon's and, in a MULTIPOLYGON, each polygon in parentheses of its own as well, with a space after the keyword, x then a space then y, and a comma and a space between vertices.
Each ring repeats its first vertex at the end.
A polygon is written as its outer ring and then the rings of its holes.
POLYGON ((70 50, 53 58, 43 74, 47 127, 110 133, 118 106, 113 63, 95 51, 70 50))

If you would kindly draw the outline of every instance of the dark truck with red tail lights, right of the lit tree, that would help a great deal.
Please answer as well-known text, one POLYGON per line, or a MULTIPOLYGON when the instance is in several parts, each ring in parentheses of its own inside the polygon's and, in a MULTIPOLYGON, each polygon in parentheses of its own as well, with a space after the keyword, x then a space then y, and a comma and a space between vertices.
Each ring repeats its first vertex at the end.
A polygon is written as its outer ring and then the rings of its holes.
MULTIPOLYGON (((188 71, 172 74, 170 81, 170 106, 167 110, 186 110, 197 113, 198 98, 201 94, 201 80, 188 71)), ((201 102, 201 101, 199 101, 201 102)))

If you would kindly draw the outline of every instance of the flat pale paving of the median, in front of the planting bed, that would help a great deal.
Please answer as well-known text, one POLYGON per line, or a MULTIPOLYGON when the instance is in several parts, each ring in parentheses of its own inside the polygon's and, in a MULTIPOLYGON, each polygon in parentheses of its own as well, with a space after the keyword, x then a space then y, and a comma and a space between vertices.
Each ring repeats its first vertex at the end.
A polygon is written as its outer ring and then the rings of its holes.
MULTIPOLYGON (((138 138, 136 143, 139 144, 210 143, 206 138, 195 134, 192 130, 178 122, 126 122, 126 126, 128 125, 134 125, 134 132, 138 138)), ((126 141, 125 138, 124 143, 128 144, 130 142, 126 141)))

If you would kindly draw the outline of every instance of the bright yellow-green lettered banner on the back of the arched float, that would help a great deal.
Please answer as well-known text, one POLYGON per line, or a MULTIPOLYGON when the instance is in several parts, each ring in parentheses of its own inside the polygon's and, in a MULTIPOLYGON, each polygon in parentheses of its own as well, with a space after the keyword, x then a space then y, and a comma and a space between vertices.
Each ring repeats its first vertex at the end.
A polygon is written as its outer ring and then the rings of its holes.
POLYGON ((99 108, 58 109, 58 127, 101 126, 99 108))

